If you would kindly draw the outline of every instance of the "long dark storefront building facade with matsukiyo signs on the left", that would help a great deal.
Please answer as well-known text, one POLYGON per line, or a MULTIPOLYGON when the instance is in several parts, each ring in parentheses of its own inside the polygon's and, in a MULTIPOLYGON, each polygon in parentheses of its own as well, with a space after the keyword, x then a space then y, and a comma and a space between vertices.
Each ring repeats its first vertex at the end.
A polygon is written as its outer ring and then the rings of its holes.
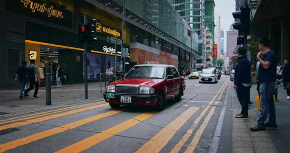
POLYGON ((185 69, 199 57, 198 38, 194 36, 197 34, 187 33, 193 30, 168 1, 125 1, 122 33, 123 2, 1 1, 0 20, 7 24, 2 24, 0 30, 3 54, 0 61, 4 71, 0 89, 18 87, 19 83, 14 81, 17 67, 31 57, 36 59, 41 84, 46 72, 52 73, 55 81, 56 63, 64 69, 66 83, 82 83, 85 77, 97 81, 109 66, 121 69, 121 45, 110 42, 110 37, 123 37, 123 48, 129 50, 123 62, 125 70, 148 61, 185 69), (96 40, 88 48, 88 59, 84 58, 84 45, 78 40, 83 13, 88 14, 88 22, 96 27, 96 40), (84 60, 88 63, 87 76, 83 73, 84 60), (46 67, 49 71, 45 71, 46 67))

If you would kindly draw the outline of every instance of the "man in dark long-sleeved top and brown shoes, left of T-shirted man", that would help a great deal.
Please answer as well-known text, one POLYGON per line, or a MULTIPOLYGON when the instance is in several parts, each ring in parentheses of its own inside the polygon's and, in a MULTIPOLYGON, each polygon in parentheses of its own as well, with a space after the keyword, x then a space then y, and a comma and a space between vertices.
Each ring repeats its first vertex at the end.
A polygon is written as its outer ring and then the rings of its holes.
POLYGON ((246 56, 246 52, 246 48, 238 48, 239 61, 235 68, 234 88, 237 89, 237 96, 242 105, 242 111, 235 116, 236 118, 248 117, 251 88, 251 64, 246 56))

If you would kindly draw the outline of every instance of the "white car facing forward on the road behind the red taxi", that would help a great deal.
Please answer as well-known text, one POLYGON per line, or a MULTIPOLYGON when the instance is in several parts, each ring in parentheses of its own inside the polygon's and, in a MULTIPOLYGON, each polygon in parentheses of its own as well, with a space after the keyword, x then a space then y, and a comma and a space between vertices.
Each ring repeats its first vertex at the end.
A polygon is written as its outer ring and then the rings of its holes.
POLYGON ((218 71, 215 68, 204 68, 199 74, 199 83, 218 83, 218 71))

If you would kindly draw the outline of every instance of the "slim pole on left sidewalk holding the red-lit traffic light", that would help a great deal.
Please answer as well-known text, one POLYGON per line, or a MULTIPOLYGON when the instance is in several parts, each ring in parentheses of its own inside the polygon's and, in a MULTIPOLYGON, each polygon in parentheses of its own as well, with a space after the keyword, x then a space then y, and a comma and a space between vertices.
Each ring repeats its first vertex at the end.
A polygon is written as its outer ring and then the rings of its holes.
MULTIPOLYGON (((88 14, 84 13, 84 25, 88 24, 88 14)), ((87 65, 87 53, 88 53, 88 41, 84 44, 85 52, 84 52, 84 64, 85 64, 85 99, 88 99, 88 65, 87 65)))

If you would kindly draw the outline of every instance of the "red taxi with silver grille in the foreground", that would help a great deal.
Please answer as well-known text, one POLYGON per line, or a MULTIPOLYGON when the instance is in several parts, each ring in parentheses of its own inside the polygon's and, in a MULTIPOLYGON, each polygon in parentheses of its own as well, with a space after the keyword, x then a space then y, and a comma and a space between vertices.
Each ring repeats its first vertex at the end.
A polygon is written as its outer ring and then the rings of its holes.
POLYGON ((174 66, 143 64, 135 65, 123 79, 110 83, 104 98, 112 108, 143 105, 163 110, 167 100, 181 100, 184 90, 184 78, 174 66))

